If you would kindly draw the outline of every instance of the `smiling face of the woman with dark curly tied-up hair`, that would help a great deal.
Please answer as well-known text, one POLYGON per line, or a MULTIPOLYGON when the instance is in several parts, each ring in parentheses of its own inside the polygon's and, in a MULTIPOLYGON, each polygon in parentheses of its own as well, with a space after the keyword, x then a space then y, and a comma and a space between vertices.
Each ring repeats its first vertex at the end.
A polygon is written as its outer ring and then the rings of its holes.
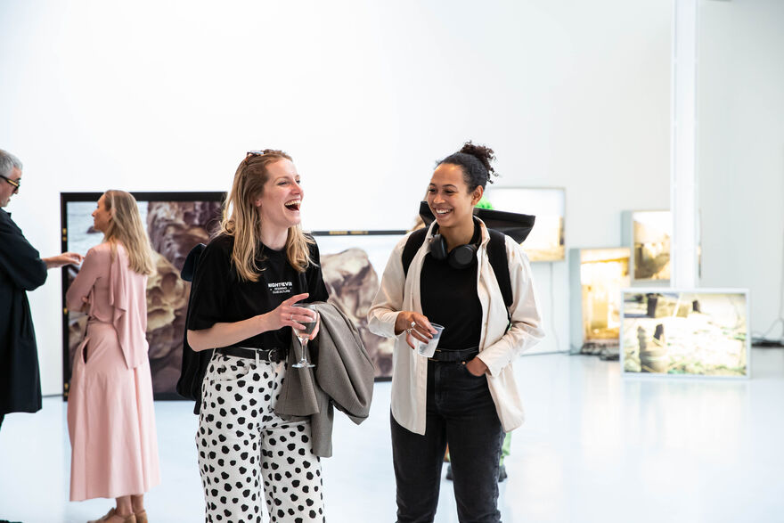
POLYGON ((451 163, 439 165, 428 186, 428 205, 438 227, 473 227, 474 206, 482 198, 483 191, 481 186, 469 191, 460 166, 451 163))

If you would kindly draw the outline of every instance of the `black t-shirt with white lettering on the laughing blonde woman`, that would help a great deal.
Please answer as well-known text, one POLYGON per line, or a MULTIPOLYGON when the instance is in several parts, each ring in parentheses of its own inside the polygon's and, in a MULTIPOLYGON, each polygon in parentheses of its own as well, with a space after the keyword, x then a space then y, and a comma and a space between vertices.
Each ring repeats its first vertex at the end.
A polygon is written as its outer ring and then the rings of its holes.
MULTIPOLYGON (((215 323, 233 323, 262 315, 281 305, 283 300, 310 293, 304 301, 326 301, 329 298, 324 285, 318 246, 310 247, 310 257, 315 265, 305 273, 290 266, 286 251, 274 250, 262 244, 257 266, 264 270, 257 282, 240 279, 232 264, 233 236, 221 235, 210 241, 199 258, 193 275, 188 329, 209 329, 215 323)), ((236 345, 242 347, 283 348, 290 345, 291 328, 267 331, 236 345)))

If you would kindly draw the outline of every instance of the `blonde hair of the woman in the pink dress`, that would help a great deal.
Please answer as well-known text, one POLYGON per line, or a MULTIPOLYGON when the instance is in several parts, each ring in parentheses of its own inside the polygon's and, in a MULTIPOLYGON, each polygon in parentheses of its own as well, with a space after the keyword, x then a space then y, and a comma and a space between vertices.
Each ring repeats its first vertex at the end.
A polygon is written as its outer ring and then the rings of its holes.
POLYGON ((128 192, 110 190, 103 193, 103 203, 111 217, 103 233, 103 241, 111 245, 111 259, 117 256, 117 244, 121 243, 126 248, 131 270, 151 275, 155 271, 152 248, 142 225, 136 199, 128 192))

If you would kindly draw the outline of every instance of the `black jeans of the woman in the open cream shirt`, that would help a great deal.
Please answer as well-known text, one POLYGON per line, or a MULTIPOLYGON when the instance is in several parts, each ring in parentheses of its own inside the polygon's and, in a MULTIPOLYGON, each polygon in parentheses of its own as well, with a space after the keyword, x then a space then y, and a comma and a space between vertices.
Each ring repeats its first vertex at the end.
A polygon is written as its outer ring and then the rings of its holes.
POLYGON ((447 442, 458 519, 501 521, 498 462, 504 433, 485 376, 473 376, 460 362, 429 361, 424 436, 390 418, 398 523, 429 523, 435 518, 447 442))

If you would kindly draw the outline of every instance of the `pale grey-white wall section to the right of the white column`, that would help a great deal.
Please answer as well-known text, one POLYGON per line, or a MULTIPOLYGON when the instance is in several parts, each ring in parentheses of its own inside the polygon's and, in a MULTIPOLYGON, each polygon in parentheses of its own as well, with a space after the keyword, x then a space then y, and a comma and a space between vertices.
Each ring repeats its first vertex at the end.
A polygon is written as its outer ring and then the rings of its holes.
POLYGON ((784 2, 699 3, 698 179, 705 287, 751 290, 784 337, 784 2))

